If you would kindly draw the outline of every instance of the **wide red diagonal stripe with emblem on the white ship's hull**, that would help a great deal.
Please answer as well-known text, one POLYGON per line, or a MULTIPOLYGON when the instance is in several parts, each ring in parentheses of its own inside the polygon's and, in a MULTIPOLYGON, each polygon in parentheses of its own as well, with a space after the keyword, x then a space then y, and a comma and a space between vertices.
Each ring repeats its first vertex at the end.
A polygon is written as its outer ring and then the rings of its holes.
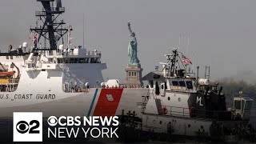
POLYGON ((94 109, 94 116, 114 116, 122 96, 123 88, 102 89, 97 105, 94 109), (111 101, 113 98, 113 101, 111 101))

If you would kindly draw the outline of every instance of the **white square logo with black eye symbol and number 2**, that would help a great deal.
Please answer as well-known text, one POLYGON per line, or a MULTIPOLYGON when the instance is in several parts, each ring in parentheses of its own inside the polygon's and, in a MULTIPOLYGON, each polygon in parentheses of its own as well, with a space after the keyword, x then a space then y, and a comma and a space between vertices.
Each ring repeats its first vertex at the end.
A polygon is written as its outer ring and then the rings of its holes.
POLYGON ((42 142, 42 113, 14 112, 14 142, 42 142))

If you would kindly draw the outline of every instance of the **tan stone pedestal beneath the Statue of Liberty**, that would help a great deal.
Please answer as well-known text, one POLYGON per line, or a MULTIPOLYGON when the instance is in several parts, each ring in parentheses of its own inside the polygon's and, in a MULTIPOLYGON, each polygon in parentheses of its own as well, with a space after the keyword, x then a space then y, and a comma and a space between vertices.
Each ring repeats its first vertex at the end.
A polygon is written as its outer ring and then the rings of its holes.
POLYGON ((126 86, 143 86, 141 66, 126 66, 126 86))

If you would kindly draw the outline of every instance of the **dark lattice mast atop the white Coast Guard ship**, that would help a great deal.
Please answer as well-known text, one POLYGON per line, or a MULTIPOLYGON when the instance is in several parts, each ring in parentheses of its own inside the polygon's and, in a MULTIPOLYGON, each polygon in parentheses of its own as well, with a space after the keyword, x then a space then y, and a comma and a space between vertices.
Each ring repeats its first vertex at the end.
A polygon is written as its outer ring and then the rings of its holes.
MULTIPOLYGON (((57 42, 66 34, 69 29, 63 28, 66 22, 63 20, 57 21, 60 14, 65 12, 65 8, 62 7, 61 0, 37 0, 42 2, 42 11, 36 11, 35 16, 38 17, 42 22, 42 26, 36 26, 30 28, 30 31, 34 31, 38 34, 37 42, 34 43, 34 48, 36 50, 57 50, 57 42), (56 2, 56 6, 53 6, 53 2, 56 2), (37 49, 38 42, 40 38, 44 37, 50 42, 50 48, 37 49)), ((34 49, 34 50, 35 50, 34 49)))

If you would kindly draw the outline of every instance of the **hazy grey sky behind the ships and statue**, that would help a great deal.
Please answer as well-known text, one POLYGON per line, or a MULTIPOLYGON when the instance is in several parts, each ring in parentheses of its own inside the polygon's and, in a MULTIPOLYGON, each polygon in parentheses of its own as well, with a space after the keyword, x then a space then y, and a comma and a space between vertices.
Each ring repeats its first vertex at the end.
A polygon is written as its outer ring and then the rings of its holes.
MULTIPOLYGON (((86 47, 102 51, 108 69, 104 78, 124 80, 130 34, 127 22, 138 40, 138 57, 143 74, 165 62, 163 54, 178 46, 197 66, 210 66, 211 78, 255 74, 255 0, 62 0, 65 21, 73 26, 74 45, 82 45, 82 14, 86 22, 86 47), (244 73, 246 72, 246 73, 244 73)), ((2 0, 0 5, 0 47, 19 46, 28 41, 34 26, 36 0, 2 0)))

